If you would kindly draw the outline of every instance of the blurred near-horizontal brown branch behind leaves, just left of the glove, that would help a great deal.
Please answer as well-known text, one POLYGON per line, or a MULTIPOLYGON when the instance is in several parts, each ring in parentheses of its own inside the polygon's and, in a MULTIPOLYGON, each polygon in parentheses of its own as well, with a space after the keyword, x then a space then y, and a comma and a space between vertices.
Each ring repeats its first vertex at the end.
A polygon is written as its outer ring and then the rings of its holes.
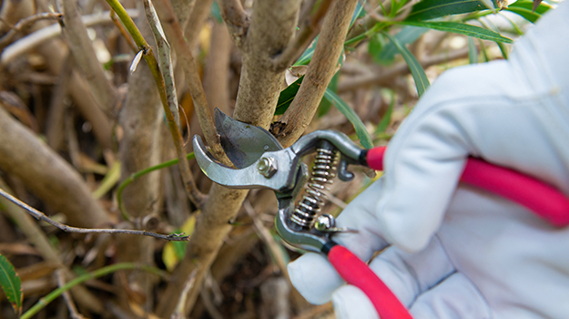
MULTIPOLYGON (((424 57, 421 61, 421 65, 423 68, 427 68, 464 57, 468 57, 468 47, 463 47, 448 53, 440 53, 431 57, 424 57)), ((388 69, 381 69, 381 71, 378 72, 352 77, 349 80, 340 82, 338 85, 338 93, 360 89, 361 87, 371 85, 390 85, 394 78, 409 74, 409 72, 407 64, 405 62, 401 62, 388 69)))

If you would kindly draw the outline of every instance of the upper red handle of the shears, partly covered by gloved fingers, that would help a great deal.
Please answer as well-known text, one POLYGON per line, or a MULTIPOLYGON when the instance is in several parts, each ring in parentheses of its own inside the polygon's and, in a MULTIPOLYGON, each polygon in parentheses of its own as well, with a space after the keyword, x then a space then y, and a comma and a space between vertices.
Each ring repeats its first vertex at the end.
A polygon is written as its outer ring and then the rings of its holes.
MULTIPOLYGON (((385 147, 368 151, 366 160, 371 169, 383 170, 384 152, 385 147)), ((569 199, 541 180, 484 160, 469 158, 461 181, 515 201, 554 226, 569 225, 569 199)))

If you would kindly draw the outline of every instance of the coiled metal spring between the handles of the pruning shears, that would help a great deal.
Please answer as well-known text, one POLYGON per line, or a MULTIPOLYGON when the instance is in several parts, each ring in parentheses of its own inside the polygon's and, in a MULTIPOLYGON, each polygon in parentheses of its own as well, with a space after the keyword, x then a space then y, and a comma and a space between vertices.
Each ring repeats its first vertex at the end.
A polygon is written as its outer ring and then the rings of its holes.
POLYGON ((336 177, 337 150, 333 147, 316 149, 312 176, 302 195, 302 200, 292 212, 290 220, 304 229, 310 229, 318 217, 321 205, 328 199, 322 192, 328 190, 327 184, 336 177))

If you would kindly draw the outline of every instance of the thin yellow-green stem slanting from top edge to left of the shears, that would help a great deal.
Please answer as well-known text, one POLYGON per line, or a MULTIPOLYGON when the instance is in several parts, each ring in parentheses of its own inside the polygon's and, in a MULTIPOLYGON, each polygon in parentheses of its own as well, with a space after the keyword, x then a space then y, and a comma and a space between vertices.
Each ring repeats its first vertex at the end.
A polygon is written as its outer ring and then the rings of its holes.
POLYGON ((184 139, 182 138, 182 133, 178 129, 176 123, 176 118, 174 114, 170 111, 168 107, 168 97, 166 94, 164 78, 160 74, 156 57, 152 53, 152 46, 147 44, 147 40, 140 34, 135 22, 127 14, 127 10, 121 5, 118 0, 107 0, 107 4, 110 5, 117 13, 120 21, 127 28, 128 33, 132 36, 133 40, 138 46, 139 50, 144 51, 144 59, 147 61, 147 66, 152 72, 152 76, 156 81, 158 93, 160 95, 160 101, 162 102, 162 108, 166 114, 166 120, 168 123, 168 129, 172 135, 172 140, 174 142, 174 148, 176 149, 176 154, 178 155, 180 173, 182 175, 182 180, 184 180, 184 188, 188 193, 188 198, 190 201, 194 202, 196 206, 201 207, 205 201, 205 195, 202 194, 196 187, 194 177, 192 176, 191 170, 189 170, 188 160, 186 160, 186 149, 184 149, 184 139))

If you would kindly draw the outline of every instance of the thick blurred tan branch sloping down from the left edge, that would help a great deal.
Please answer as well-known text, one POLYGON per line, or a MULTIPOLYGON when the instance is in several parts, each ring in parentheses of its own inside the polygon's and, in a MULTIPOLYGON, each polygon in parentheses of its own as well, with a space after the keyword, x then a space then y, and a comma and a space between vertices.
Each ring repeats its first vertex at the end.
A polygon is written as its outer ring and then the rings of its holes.
POLYGON ((108 221, 76 170, 3 108, 0 108, 0 168, 23 180, 42 201, 66 214, 72 225, 92 227, 108 221))

